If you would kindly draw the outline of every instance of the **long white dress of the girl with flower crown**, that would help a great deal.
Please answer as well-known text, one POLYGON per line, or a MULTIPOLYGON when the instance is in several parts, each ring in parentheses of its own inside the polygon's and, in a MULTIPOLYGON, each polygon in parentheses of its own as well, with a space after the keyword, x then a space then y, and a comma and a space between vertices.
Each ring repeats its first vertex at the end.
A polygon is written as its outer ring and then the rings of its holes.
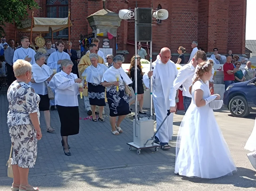
MULTIPOLYGON (((233 175, 237 169, 215 119, 211 102, 202 107, 195 105, 194 93, 198 89, 203 90, 203 99, 211 96, 208 86, 203 81, 198 80, 194 83, 192 102, 177 136, 175 173, 207 179, 233 175)), ((222 101, 220 102, 222 105, 222 101)))

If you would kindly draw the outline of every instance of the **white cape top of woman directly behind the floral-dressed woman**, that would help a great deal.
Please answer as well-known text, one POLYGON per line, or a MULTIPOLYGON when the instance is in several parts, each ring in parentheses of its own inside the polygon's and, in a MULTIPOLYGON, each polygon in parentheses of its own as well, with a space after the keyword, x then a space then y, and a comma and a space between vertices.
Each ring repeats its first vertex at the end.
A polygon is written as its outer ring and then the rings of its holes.
POLYGON ((31 83, 32 88, 34 88, 37 94, 45 95, 47 94, 47 87, 45 85, 45 80, 47 80, 52 75, 52 70, 49 66, 43 64, 41 67, 38 64, 32 65, 32 78, 36 83, 31 83))

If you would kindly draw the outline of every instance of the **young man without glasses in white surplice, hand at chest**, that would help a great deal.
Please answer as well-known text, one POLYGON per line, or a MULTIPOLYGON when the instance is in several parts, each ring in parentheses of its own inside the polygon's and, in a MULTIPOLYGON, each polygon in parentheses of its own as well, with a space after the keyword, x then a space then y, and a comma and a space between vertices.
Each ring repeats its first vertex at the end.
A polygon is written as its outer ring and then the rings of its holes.
POLYGON ((30 42, 28 40, 28 37, 24 36, 20 39, 21 47, 17 48, 14 51, 12 63, 16 62, 18 59, 26 60, 30 64, 35 64, 35 55, 36 52, 32 48, 29 48, 30 42))

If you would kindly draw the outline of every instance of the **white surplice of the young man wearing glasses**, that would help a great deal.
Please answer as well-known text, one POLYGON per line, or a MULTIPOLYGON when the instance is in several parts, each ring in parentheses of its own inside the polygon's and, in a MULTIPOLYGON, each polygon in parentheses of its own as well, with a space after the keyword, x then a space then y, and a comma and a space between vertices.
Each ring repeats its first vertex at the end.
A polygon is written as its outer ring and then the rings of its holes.
POLYGON ((70 60, 70 56, 68 55, 68 53, 65 53, 64 51, 53 52, 47 59, 47 66, 49 66, 51 70, 56 69, 57 72, 60 72, 61 68, 60 68, 60 64, 58 64, 58 60, 64 60, 64 59, 70 60))

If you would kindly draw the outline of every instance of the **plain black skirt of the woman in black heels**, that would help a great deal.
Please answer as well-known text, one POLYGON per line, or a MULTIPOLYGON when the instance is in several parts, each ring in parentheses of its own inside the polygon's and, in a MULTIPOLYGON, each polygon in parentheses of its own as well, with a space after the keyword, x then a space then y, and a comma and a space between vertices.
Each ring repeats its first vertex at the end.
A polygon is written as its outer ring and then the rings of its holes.
POLYGON ((61 136, 75 135, 79 133, 79 109, 78 106, 67 107, 56 105, 60 117, 61 136))

